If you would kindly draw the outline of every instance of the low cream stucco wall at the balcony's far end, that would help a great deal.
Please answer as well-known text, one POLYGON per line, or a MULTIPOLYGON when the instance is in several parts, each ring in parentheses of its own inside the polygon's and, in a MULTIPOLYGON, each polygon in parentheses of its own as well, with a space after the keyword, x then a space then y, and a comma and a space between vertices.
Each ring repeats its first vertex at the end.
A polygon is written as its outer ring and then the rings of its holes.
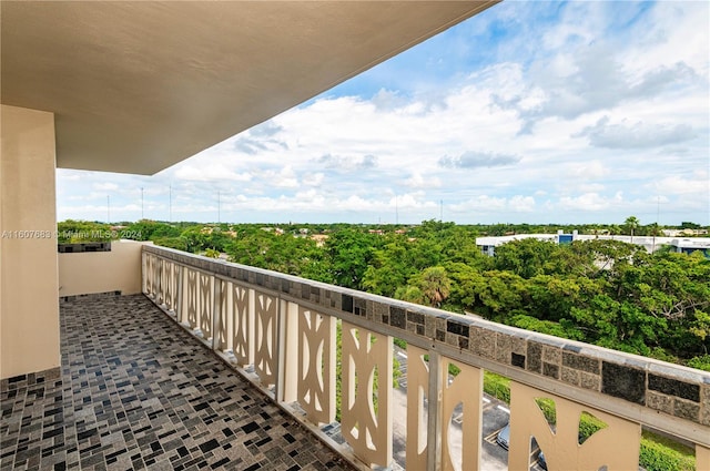
POLYGON ((111 243, 111 252, 59 254, 59 296, 141 293, 143 244, 120 240, 111 243))

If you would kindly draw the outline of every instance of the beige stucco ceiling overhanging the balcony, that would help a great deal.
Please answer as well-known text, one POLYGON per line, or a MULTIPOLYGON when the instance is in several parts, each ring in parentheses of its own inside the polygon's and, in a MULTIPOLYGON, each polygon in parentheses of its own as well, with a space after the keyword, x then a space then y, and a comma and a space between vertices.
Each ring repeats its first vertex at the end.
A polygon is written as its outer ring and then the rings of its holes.
POLYGON ((2 1, 1 101, 57 164, 152 174, 496 1, 2 1))

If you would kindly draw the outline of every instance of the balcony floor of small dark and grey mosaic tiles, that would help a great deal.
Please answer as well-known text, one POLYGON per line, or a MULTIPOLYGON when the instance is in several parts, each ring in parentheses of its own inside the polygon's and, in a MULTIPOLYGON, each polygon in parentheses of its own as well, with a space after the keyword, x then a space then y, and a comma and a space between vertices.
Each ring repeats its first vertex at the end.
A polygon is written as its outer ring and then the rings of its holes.
POLYGON ((62 373, 1 396, 0 468, 351 469, 142 295, 61 303, 62 373))

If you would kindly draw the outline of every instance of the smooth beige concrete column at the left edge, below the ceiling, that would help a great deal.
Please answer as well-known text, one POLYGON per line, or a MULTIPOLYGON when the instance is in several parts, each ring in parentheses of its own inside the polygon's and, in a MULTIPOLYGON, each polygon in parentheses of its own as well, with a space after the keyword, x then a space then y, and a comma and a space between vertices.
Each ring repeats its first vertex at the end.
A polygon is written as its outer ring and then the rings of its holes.
POLYGON ((1 106, 0 378, 60 366, 52 113, 1 106))

